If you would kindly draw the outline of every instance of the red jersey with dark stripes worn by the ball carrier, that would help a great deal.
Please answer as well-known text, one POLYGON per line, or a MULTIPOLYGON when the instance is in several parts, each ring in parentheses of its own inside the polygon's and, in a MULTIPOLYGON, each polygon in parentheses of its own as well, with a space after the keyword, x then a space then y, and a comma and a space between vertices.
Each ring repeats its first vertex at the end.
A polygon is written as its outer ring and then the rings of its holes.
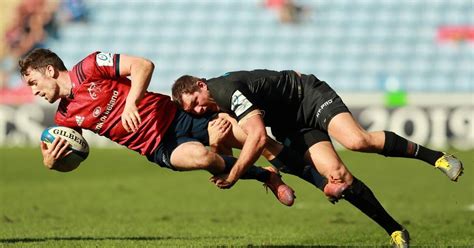
POLYGON ((61 99, 57 125, 87 129, 137 151, 151 154, 174 119, 177 106, 169 96, 146 92, 138 105, 142 123, 135 132, 125 131, 121 115, 131 81, 120 77, 119 54, 95 52, 69 72, 72 96, 61 99))

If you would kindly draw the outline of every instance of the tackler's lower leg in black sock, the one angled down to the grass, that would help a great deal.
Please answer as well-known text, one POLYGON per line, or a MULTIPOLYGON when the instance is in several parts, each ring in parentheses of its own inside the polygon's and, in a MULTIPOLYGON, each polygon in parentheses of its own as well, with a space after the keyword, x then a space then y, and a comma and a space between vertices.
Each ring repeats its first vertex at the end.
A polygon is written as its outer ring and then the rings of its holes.
MULTIPOLYGON (((326 175, 330 182, 346 184, 339 198, 347 200, 365 215, 379 224, 389 235, 402 232, 403 227, 395 221, 383 208, 369 187, 353 177, 328 141, 319 142, 310 147, 307 156, 321 174, 326 175)), ((326 193, 326 192, 325 192, 326 193)), ((332 199, 337 202, 337 198, 332 199)))

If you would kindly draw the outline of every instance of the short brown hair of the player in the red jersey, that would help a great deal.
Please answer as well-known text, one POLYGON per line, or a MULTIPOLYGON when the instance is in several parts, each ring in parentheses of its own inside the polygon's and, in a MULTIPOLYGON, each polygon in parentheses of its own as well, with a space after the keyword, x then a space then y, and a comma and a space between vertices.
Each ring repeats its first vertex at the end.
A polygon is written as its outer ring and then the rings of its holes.
POLYGON ((20 73, 22 76, 26 76, 27 71, 30 68, 44 73, 46 66, 48 65, 51 65, 60 71, 67 71, 61 58, 52 51, 44 48, 37 48, 31 51, 18 61, 18 65, 20 66, 20 73))

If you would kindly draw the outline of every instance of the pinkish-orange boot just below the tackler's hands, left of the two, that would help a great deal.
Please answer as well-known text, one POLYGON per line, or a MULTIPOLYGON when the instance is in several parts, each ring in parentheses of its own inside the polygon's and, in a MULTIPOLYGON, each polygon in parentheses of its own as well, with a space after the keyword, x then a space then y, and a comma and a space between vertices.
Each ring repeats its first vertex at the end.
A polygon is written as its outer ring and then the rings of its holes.
POLYGON ((290 207, 295 202, 295 191, 290 188, 290 186, 286 185, 281 180, 281 175, 278 171, 272 167, 263 167, 265 170, 270 171, 270 178, 266 181, 263 186, 266 188, 267 192, 268 189, 273 192, 276 198, 285 206, 290 207))

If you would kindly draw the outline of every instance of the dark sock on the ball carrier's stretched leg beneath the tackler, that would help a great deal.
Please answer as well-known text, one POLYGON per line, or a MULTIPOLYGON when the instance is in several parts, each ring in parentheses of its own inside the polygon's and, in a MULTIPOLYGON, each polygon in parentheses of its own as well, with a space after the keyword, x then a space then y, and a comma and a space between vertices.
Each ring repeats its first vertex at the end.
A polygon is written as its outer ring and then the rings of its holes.
POLYGON ((323 190, 327 183, 326 178, 321 176, 313 165, 304 165, 303 155, 286 146, 269 162, 282 172, 295 175, 318 189, 323 190))

